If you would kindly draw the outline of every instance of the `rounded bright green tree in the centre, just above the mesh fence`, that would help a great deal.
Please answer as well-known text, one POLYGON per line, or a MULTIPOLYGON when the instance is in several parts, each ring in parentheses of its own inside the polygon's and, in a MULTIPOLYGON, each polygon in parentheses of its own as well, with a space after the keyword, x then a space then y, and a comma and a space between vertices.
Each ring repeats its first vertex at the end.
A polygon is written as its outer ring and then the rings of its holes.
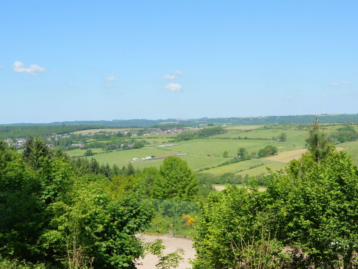
POLYGON ((151 197, 194 201, 198 198, 197 194, 197 176, 190 170, 187 162, 177 157, 166 158, 154 180, 151 197))

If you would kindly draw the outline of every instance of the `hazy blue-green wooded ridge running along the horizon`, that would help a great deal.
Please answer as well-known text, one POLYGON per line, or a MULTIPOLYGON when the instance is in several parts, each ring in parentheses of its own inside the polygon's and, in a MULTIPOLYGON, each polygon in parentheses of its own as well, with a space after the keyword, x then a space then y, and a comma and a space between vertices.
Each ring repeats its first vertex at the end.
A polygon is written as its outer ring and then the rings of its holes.
POLYGON ((358 122, 358 114, 325 114, 325 115, 288 115, 265 117, 231 117, 231 118, 200 118, 200 119, 115 119, 112 121, 67 121, 51 123, 10 123, 0 126, 106 126, 106 127, 152 127, 152 126, 214 126, 221 125, 256 125, 275 123, 311 123, 319 118, 320 123, 358 122))

